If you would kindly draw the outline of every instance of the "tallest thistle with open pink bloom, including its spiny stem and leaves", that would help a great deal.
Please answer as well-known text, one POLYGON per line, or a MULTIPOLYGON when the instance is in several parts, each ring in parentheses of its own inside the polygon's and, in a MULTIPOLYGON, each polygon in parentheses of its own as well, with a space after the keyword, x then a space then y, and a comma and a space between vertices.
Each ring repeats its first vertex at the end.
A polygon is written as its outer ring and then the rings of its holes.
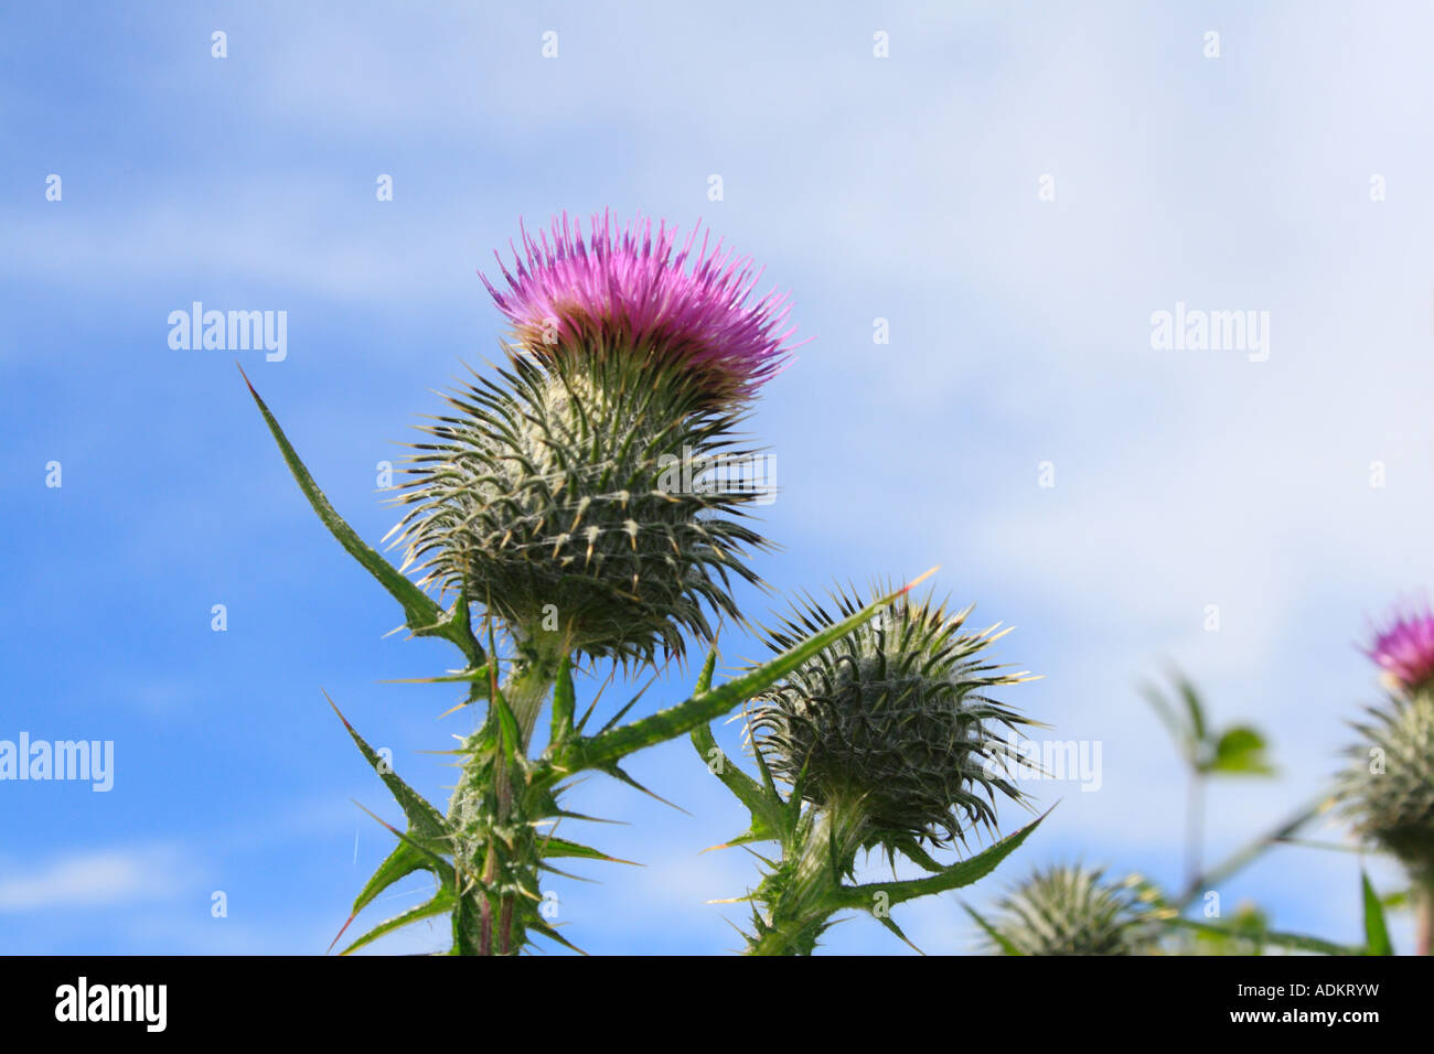
MULTIPOLYGON (((802 640, 784 638, 771 661, 713 687, 713 622, 741 621, 731 585, 759 582, 747 559, 769 545, 747 523, 751 495, 700 480, 721 459, 750 455, 737 429, 756 390, 790 357, 792 330, 783 328, 783 297, 751 300, 760 272, 749 260, 720 242, 710 248, 706 237, 694 252, 695 231, 680 250, 675 238, 665 224, 654 234, 650 221, 619 231, 607 214, 584 237, 562 217, 551 238, 523 232, 512 271, 499 260, 508 288, 483 281, 512 324, 506 366, 450 393, 447 412, 414 445, 396 488, 403 515, 390 532, 404 551, 402 568, 334 511, 250 389, 330 532, 399 601, 413 635, 445 638, 462 652, 460 668, 424 680, 460 684, 460 707, 486 704, 478 728, 450 751, 457 782, 445 810, 344 720, 406 819, 404 830, 389 827, 397 845, 360 891, 350 922, 404 876, 435 879, 429 901, 346 952, 445 915, 456 955, 516 954, 538 936, 566 945, 539 911, 545 873, 561 858, 612 860, 554 830, 558 820, 588 819, 562 804, 574 779, 601 771, 638 786, 621 764, 628 754, 707 733, 708 721, 905 595, 892 588, 865 608, 847 605, 802 640), (684 657, 690 638, 711 645, 691 697, 619 724, 634 698, 589 731, 595 701, 576 713, 581 663, 650 671, 684 657), (535 756, 543 707, 549 734, 535 756)), ((946 760, 965 757, 948 744, 946 760)), ((823 787, 836 786, 829 771, 823 787)), ((952 802, 981 815, 961 794, 952 802)), ((888 822, 899 812, 891 800, 875 823, 853 830, 862 840, 918 837, 888 822)), ((803 823, 825 816, 830 810, 812 812, 803 823)))

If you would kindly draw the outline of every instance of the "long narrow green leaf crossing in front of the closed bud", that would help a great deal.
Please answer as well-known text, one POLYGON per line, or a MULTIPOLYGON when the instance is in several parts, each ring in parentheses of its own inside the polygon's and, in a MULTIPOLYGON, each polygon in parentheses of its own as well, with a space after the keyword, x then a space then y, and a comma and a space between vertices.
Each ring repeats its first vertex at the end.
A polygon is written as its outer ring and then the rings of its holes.
MULTIPOLYGON (((929 575, 931 572, 928 571, 926 574, 929 575)), ((650 747, 657 743, 665 743, 670 739, 681 736, 684 731, 691 731, 698 724, 706 724, 716 717, 721 717, 739 703, 744 703, 757 693, 776 684, 812 655, 846 637, 846 634, 866 622, 872 618, 872 615, 921 582, 925 576, 926 575, 922 575, 921 578, 912 581, 911 585, 895 589, 886 597, 868 604, 852 617, 827 627, 813 637, 809 637, 802 641, 802 644, 789 648, 770 663, 757 667, 734 681, 728 681, 720 688, 698 693, 685 703, 678 703, 675 707, 660 710, 650 717, 632 721, 621 728, 605 731, 584 744, 574 744, 569 751, 569 757, 565 759, 566 763, 564 767, 574 770, 578 767, 601 769, 602 766, 621 757, 627 757, 637 750, 642 750, 644 747, 650 747)))

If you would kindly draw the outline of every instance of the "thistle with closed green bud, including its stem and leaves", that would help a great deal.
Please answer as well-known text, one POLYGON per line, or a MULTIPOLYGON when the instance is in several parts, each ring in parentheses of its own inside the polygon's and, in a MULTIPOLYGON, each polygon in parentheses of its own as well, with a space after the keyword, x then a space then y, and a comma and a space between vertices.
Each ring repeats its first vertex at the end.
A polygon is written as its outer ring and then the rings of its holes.
MULTIPOLYGON (((883 592, 875 589, 875 595, 883 592)), ((987 875, 1035 823, 956 863, 929 850, 965 846, 994 832, 998 796, 1027 806, 1001 770, 1010 746, 999 728, 1032 724, 985 693, 1030 680, 985 661, 985 648, 1008 631, 969 632, 972 608, 901 594, 879 615, 812 654, 759 693, 747 714, 757 783, 726 759, 708 728, 693 741, 711 770, 751 813, 747 832, 727 845, 774 840, 763 859, 747 951, 809 955, 836 912, 858 908, 906 941, 889 909, 915 896, 956 889, 987 875), (776 782, 790 786, 783 796, 776 782), (928 875, 852 885, 858 855, 879 850, 928 875)), ((869 609, 855 594, 832 594, 832 614, 815 601, 767 631, 773 651, 829 631, 869 609)), ((909 941, 908 941, 909 944, 909 941)))

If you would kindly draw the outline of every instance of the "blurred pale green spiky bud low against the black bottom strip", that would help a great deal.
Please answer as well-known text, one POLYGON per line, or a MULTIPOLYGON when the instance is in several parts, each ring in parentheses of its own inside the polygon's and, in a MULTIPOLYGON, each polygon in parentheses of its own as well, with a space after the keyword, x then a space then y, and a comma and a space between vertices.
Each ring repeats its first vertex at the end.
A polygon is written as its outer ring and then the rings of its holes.
POLYGON ((1038 868, 997 902, 989 949, 1018 955, 1131 955, 1149 938, 1139 880, 1081 865, 1038 868))

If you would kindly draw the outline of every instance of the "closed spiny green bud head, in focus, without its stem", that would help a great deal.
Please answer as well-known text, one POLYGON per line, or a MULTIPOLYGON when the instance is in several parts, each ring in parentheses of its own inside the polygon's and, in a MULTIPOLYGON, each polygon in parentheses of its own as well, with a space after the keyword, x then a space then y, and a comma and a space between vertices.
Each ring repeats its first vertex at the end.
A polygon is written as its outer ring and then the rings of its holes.
MULTIPOLYGON (((836 614, 810 598, 794 608, 767 631, 771 650, 865 604, 842 589, 832 602, 836 614)), ((971 609, 902 597, 753 703, 766 763, 819 807, 860 809, 868 846, 965 842, 975 826, 994 829, 997 794, 1024 802, 1005 777, 1012 751, 1001 731, 1031 721, 985 693, 1028 678, 987 663, 987 645, 1008 631, 965 631, 971 609)))

